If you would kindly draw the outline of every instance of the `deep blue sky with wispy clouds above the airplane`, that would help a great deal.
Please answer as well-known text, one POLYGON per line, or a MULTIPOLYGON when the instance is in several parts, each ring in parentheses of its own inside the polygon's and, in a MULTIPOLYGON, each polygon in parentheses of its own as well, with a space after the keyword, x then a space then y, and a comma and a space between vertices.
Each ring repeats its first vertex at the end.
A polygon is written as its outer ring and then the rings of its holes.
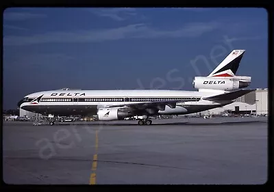
POLYGON ((267 36, 262 8, 10 8, 3 109, 62 87, 194 90, 233 49, 246 50, 237 74, 267 87, 267 36))

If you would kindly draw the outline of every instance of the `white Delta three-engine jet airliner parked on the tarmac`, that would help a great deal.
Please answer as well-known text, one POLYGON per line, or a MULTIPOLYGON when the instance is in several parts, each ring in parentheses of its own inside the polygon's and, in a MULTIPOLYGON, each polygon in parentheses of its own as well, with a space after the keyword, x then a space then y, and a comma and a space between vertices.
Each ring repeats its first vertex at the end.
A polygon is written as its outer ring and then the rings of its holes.
POLYGON ((149 118, 155 115, 207 111, 255 91, 243 89, 250 85, 251 77, 236 76, 244 53, 245 50, 233 50, 207 77, 195 77, 192 85, 198 91, 63 88, 28 94, 18 102, 18 107, 51 116, 97 115, 99 121, 135 117, 139 125, 150 125, 149 118))

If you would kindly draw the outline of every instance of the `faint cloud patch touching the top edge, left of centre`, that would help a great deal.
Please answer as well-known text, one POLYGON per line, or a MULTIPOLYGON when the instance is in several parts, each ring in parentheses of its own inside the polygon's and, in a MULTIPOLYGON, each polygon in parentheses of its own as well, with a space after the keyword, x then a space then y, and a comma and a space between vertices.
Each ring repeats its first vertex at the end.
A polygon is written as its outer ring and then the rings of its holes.
POLYGON ((135 8, 92 8, 90 11, 97 16, 109 17, 117 21, 136 16, 135 8))

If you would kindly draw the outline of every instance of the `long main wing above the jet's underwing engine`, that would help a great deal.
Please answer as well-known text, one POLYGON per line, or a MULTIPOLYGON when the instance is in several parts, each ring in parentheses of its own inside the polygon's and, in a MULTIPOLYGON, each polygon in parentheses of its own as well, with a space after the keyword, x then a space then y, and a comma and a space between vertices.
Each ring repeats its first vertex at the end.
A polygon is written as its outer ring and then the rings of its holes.
POLYGON ((158 108, 161 109, 165 107, 165 105, 175 108, 177 102, 184 102, 186 100, 169 100, 169 101, 147 101, 147 102, 137 102, 137 103, 129 103, 122 105, 108 105, 105 108, 112 107, 130 107, 132 109, 147 109, 147 108, 158 108))

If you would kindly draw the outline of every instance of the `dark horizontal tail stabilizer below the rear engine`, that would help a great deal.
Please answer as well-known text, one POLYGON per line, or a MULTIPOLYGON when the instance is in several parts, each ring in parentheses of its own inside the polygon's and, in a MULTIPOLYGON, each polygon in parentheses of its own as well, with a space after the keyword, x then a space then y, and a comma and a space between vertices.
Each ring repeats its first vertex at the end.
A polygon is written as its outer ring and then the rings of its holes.
POLYGON ((216 96, 209 96, 206 98, 203 98, 203 100, 211 100, 211 101, 219 101, 219 100, 234 100, 240 96, 243 96, 245 94, 249 94, 250 92, 253 92, 255 90, 237 90, 234 92, 229 92, 225 94, 219 94, 216 96))

